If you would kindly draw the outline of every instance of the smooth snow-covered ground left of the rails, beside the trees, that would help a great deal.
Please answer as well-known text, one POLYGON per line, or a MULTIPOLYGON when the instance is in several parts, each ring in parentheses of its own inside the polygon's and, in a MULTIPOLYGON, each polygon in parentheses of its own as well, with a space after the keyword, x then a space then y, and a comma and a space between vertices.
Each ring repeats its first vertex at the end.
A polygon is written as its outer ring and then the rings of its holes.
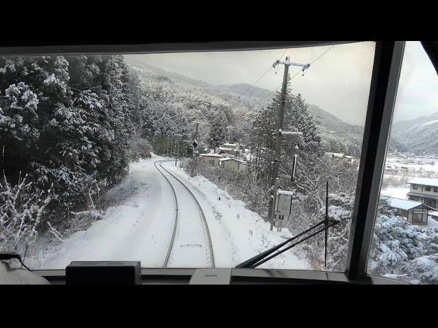
POLYGON ((83 260, 140 260, 142 267, 162 267, 175 223, 175 202, 168 182, 153 165, 156 159, 160 158, 131 163, 114 195, 128 197, 108 208, 88 230, 46 251, 34 267, 64 269, 83 260))

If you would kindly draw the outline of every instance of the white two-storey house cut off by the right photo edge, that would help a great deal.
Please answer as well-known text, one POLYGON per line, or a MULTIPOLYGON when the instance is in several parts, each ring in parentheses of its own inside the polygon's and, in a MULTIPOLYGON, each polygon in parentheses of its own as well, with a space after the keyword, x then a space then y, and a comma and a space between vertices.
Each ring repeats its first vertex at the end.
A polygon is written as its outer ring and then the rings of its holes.
POLYGON ((437 208, 438 206, 438 179, 437 178, 413 178, 409 181, 410 189, 407 193, 409 200, 423 202, 437 208))

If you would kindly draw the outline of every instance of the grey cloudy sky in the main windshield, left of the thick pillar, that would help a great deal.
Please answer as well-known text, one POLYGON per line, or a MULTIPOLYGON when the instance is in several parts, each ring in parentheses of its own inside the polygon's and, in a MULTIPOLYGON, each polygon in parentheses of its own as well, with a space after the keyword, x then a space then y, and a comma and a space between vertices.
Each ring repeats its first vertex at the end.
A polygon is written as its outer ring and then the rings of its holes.
MULTIPOLYGON (((309 63, 330 46, 287 49, 291 61, 309 63)), ((201 79, 212 84, 252 84, 286 49, 204 53, 136 55, 146 64, 201 79)), ((284 59, 284 57, 283 57, 284 59)), ((370 92, 374 42, 337 44, 310 67, 292 79, 292 90, 314 105, 344 121, 364 124, 370 92)), ((291 67, 292 74, 300 68, 291 67)), ((283 66, 270 70, 256 86, 274 90, 281 85, 283 66)))

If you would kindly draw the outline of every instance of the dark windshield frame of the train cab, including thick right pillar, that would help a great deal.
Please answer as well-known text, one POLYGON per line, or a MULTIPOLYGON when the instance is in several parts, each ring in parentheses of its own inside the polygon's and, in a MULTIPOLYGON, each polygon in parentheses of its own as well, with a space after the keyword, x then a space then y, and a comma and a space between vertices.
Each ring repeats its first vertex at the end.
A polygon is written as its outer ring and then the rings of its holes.
MULTIPOLYGON (((48 42, 40 45, 29 45, 29 43, 26 44, 23 42, 18 45, 1 45, 0 54, 10 56, 251 51, 353 42, 358 41, 139 42, 131 44, 116 44, 116 42, 113 44, 86 44, 86 42, 82 44, 53 44, 55 42, 48 42)), ((250 276, 268 279, 274 277, 278 278, 283 274, 289 278, 301 277, 300 279, 309 279, 309 281, 313 281, 313 279, 317 279, 318 276, 320 276, 319 279, 326 279, 333 282, 339 280, 341 282, 359 283, 398 283, 393 279, 368 275, 367 262, 372 240, 372 230, 374 228, 378 194, 383 177, 391 118, 394 112, 398 79, 402 66, 404 44, 404 41, 376 41, 345 273, 289 269, 233 269, 233 276, 242 276, 244 272, 250 272, 250 276), (307 278, 303 276, 303 274, 307 275, 307 278), (313 278, 313 276, 315 278, 313 278)), ((187 275, 191 272, 190 270, 192 269, 142 269, 142 274, 148 275, 154 271, 154 275, 187 275)), ((59 279, 64 277, 65 279, 65 270, 36 270, 35 272, 43 277, 58 277, 59 279)))

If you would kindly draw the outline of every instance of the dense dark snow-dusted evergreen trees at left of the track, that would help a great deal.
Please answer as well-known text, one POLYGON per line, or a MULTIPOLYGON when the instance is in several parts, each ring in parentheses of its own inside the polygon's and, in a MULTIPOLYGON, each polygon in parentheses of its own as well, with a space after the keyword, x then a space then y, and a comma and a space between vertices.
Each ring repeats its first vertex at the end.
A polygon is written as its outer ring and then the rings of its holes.
POLYGON ((21 186, 23 171, 31 183, 19 188, 27 195, 51 189, 42 209, 51 226, 36 231, 55 236, 71 212, 95 207, 99 184, 127 172, 131 78, 120 55, 0 57, 3 186, 21 186))

